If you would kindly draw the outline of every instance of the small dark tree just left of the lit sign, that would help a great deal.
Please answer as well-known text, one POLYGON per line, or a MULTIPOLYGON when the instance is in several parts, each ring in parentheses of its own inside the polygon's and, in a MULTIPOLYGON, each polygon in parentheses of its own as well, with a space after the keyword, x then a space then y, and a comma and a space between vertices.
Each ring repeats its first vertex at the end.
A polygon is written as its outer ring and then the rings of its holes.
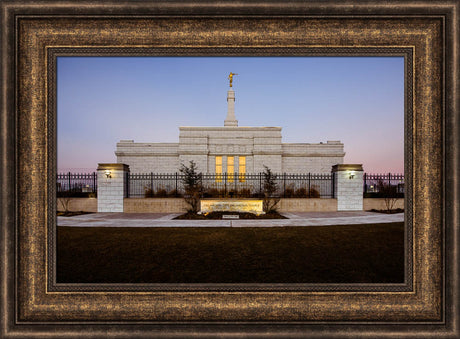
POLYGON ((200 210, 200 198, 203 192, 202 173, 198 173, 195 162, 190 161, 190 166, 181 164, 180 172, 184 174, 182 182, 184 184, 184 199, 190 205, 188 212, 198 213, 200 210))

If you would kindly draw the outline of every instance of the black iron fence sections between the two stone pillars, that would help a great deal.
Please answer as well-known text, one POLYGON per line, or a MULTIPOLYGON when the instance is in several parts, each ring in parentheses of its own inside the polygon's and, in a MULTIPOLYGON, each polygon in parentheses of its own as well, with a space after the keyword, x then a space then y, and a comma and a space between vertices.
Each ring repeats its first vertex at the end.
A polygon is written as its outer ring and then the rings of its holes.
MULTIPOLYGON (((128 197, 180 197, 184 193, 183 174, 127 175, 128 197)), ((284 198, 332 198, 332 174, 277 174, 276 195, 284 198)), ((251 198, 263 195, 263 173, 207 173, 202 175, 203 197, 251 198)))

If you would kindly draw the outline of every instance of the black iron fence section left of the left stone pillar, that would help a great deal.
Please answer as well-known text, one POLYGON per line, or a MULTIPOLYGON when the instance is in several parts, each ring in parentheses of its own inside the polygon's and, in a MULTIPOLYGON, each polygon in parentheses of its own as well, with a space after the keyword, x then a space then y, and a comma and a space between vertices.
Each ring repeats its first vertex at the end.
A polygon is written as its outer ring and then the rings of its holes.
POLYGON ((95 195, 97 193, 97 174, 93 173, 59 173, 56 191, 58 196, 73 197, 95 195))

